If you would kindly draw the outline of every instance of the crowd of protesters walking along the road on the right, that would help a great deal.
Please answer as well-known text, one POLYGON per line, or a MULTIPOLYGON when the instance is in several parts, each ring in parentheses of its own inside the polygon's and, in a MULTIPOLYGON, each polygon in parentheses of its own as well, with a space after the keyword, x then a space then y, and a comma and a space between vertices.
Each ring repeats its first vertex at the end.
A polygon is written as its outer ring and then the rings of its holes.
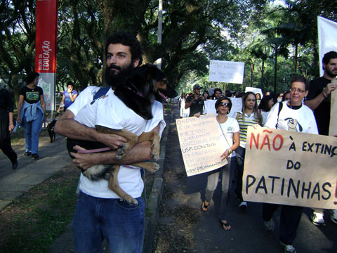
MULTIPOLYGON (((190 109, 189 117, 199 117, 203 114, 202 101, 207 99, 216 99, 216 112, 219 135, 226 147, 223 159, 231 153, 235 153, 236 159, 228 160, 228 164, 220 169, 206 172, 208 174, 205 200, 201 204, 201 209, 207 212, 216 190, 219 180, 219 172, 222 171, 222 198, 220 204, 220 223, 225 230, 230 230, 231 226, 227 218, 227 202, 230 196, 230 184, 232 181, 232 172, 236 178, 235 195, 239 200, 239 208, 246 209, 247 202, 242 197, 242 176, 244 173, 244 157, 246 148, 246 134, 248 126, 267 127, 271 129, 283 129, 286 131, 298 131, 309 134, 329 135, 329 122, 331 110, 331 91, 337 89, 337 52, 331 51, 324 55, 322 59, 324 75, 308 82, 303 76, 296 75, 291 79, 290 89, 277 94, 277 98, 270 96, 270 92, 265 92, 264 96, 260 93, 251 91, 246 93, 232 93, 226 91, 223 94, 220 91, 220 97, 214 90, 213 96, 207 91, 200 94, 200 86, 193 86, 193 93, 188 94, 187 98, 190 103, 179 104, 180 112, 190 109), (225 117, 232 108, 230 103, 231 96, 242 98, 242 111, 237 112, 235 118, 225 117), (296 124, 289 129, 289 120, 296 124), (225 124, 228 124, 224 126, 225 124), (237 127, 239 126, 239 127, 237 127), (224 130, 225 128, 225 130, 224 130), (227 131, 226 129, 230 129, 227 131), (225 134, 224 134, 225 133, 225 134), (225 137, 225 138, 223 138, 225 137), (234 151, 234 152, 233 152, 234 151)), ((185 93, 184 93, 185 94, 185 93)), ((186 99, 186 98, 185 98, 186 99)), ((180 117, 187 117, 186 114, 180 113, 180 117)), ((296 238, 297 228, 303 213, 303 207, 292 205, 277 205, 263 203, 262 218, 265 229, 273 231, 275 222, 273 214, 278 207, 282 208, 279 220, 279 241, 284 252, 296 252, 293 247, 293 241, 296 238)), ((316 226, 324 226, 324 212, 329 210, 312 209, 310 221, 316 226)), ((330 210, 331 221, 337 223, 337 210, 330 210)))

